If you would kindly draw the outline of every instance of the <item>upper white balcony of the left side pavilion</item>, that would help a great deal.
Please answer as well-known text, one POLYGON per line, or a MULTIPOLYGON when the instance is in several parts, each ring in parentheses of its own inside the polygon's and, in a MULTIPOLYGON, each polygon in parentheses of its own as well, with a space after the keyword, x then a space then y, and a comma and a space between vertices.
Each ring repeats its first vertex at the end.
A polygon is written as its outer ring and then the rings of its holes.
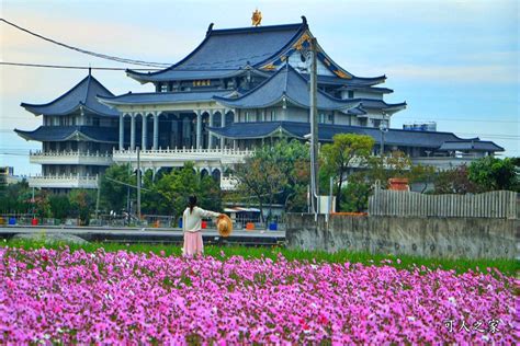
POLYGON ((37 151, 31 152, 30 162, 39 164, 111 165, 112 153, 89 151, 37 151))

